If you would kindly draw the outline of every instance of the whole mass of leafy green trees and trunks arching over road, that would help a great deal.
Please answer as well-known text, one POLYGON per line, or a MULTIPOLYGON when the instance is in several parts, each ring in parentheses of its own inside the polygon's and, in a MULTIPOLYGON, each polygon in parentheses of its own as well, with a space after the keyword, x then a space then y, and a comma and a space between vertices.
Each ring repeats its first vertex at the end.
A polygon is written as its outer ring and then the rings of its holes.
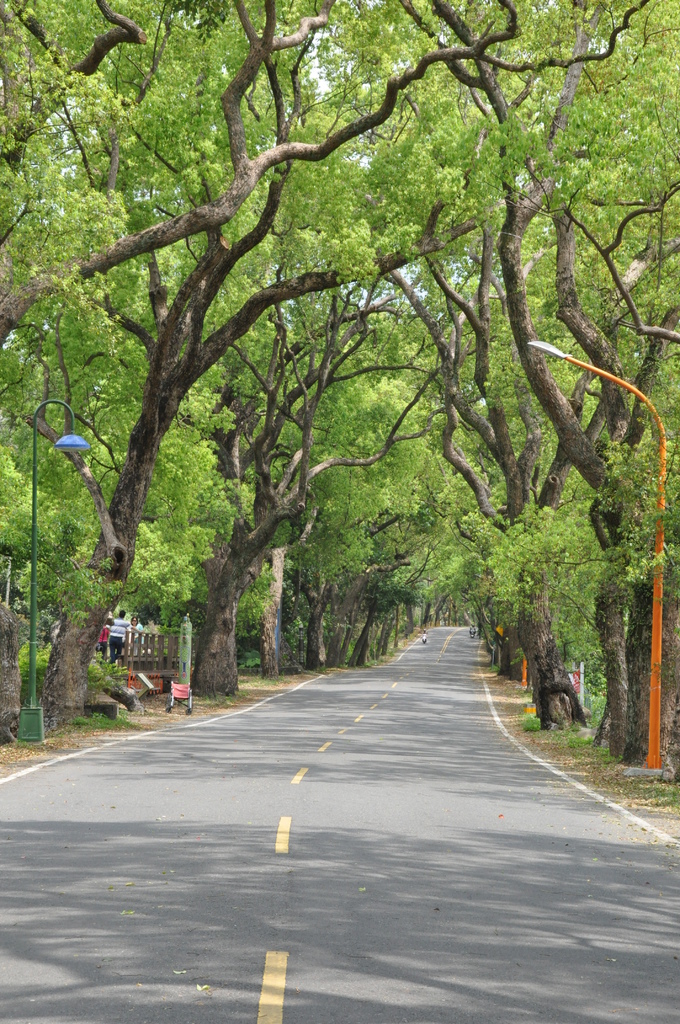
POLYGON ((238 685, 260 629, 271 667, 280 605, 310 667, 380 656, 414 615, 490 642, 504 624, 544 727, 584 721, 564 662, 587 655, 599 741, 639 761, 654 428, 540 339, 667 427, 673 749, 679 14, 0 0, 0 548, 22 615, 33 410, 69 401, 92 445, 69 465, 60 414, 39 421, 50 727, 125 596, 166 628, 192 611, 205 692, 238 685))

